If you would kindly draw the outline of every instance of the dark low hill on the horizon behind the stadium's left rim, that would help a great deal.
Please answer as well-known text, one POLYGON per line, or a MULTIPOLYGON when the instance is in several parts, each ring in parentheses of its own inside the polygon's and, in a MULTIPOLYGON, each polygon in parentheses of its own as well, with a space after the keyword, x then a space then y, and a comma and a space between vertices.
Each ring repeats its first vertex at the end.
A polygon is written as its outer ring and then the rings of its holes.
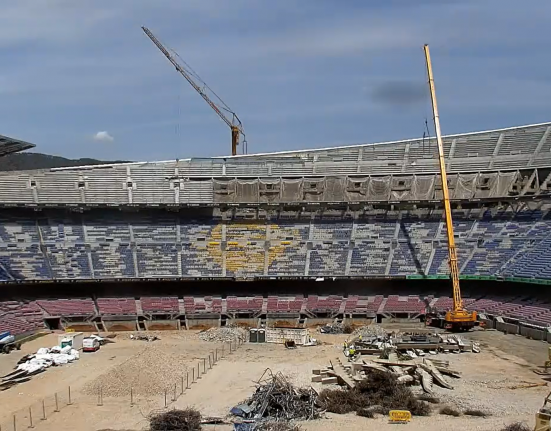
POLYGON ((122 160, 103 161, 96 159, 66 159, 41 153, 15 153, 0 157, 0 171, 20 171, 28 169, 64 168, 82 165, 101 165, 105 163, 124 163, 122 160))

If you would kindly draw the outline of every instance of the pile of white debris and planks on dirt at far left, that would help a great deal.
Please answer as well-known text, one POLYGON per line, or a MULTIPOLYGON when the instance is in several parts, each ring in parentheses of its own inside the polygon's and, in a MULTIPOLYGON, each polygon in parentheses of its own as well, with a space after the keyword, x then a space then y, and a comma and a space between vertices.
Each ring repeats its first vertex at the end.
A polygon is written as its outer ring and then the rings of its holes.
POLYGON ((78 360, 78 350, 71 346, 40 348, 35 354, 23 356, 17 363, 15 371, 0 378, 0 391, 4 391, 19 383, 27 382, 32 376, 50 367, 61 366, 78 360))

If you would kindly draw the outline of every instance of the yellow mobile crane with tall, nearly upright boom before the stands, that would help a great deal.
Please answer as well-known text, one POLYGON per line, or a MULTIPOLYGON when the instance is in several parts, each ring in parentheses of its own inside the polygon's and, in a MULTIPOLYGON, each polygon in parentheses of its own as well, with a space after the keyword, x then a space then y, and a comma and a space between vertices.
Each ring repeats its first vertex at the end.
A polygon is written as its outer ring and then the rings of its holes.
POLYGON ((459 286, 459 269, 457 265, 457 250, 455 248, 455 237, 453 234, 450 192, 448 190, 448 177, 446 175, 446 161, 444 157, 444 146, 442 144, 442 134, 440 132, 440 117, 438 115, 438 106, 436 104, 436 92, 434 89, 434 78, 432 75, 432 64, 430 61, 430 51, 428 45, 424 46, 424 51, 427 65, 430 98, 432 102, 434 128, 436 130, 436 142, 438 145, 440 179, 442 180, 442 196, 444 198, 444 214, 446 216, 446 231, 448 234, 448 263, 450 267, 450 277, 453 287, 453 308, 446 312, 443 323, 444 328, 446 329, 452 331, 465 331, 475 326, 476 312, 466 310, 463 307, 463 300, 461 298, 461 288, 459 286))

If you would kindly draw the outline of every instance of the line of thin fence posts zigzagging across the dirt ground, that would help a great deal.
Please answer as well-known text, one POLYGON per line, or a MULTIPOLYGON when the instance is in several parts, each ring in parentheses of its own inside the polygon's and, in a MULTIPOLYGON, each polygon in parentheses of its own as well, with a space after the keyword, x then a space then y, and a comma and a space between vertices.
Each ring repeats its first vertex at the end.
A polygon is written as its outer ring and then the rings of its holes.
MULTIPOLYGON (((157 399, 155 404, 161 408, 168 408, 184 392, 191 389, 192 385, 198 383, 201 377, 207 374, 221 359, 233 354, 242 344, 243 341, 239 339, 234 342, 224 343, 222 346, 209 352, 204 358, 191 364, 186 373, 174 377, 173 383, 165 388, 161 399, 157 399)), ((120 400, 120 397, 117 398, 120 400)), ((142 397, 135 393, 134 388, 128 388, 129 406, 132 407, 138 404, 141 399, 142 397)), ((149 402, 152 401, 152 397, 147 397, 147 399, 149 402)), ((111 400, 111 398, 104 398, 101 386, 98 388, 97 396, 94 397, 93 401, 89 396, 76 395, 72 392, 71 387, 68 386, 63 391, 56 392, 51 396, 36 401, 28 407, 11 413, 7 419, 0 422, 0 431, 20 431, 35 428, 41 422, 47 421, 68 406, 78 404, 103 406, 104 403, 110 403, 111 400)))

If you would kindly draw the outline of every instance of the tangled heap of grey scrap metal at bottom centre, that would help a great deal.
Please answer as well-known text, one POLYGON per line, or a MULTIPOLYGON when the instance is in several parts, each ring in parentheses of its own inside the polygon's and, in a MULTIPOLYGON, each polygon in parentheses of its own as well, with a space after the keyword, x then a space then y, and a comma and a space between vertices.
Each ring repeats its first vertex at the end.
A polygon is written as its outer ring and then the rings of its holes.
POLYGON ((281 373, 272 374, 268 369, 258 381, 253 396, 231 409, 231 413, 241 418, 241 422, 254 424, 247 429, 263 429, 261 424, 274 421, 318 419, 322 409, 317 398, 314 389, 295 388, 281 373))

